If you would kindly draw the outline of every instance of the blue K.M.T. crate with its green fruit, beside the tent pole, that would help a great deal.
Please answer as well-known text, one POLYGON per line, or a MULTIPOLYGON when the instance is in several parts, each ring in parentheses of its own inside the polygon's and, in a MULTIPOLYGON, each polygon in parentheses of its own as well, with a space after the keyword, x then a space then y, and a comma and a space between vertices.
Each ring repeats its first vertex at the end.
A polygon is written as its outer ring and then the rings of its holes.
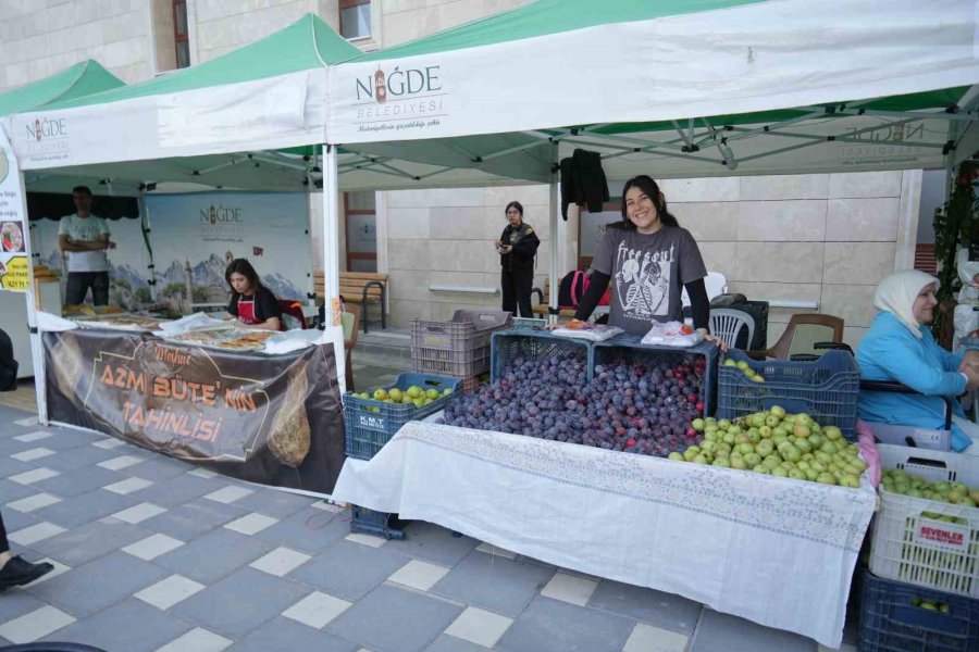
POLYGON ((409 373, 399 374, 389 387, 345 393, 347 456, 370 460, 401 426, 442 410, 461 384, 458 378, 409 373))

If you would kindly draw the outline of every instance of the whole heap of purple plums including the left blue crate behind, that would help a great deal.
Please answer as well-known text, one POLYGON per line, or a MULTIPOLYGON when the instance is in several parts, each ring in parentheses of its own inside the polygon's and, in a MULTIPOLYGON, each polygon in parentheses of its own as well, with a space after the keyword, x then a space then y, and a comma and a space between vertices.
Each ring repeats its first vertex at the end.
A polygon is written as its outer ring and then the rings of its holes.
POLYGON ((660 457, 699 438, 680 385, 692 369, 618 361, 590 378, 588 342, 508 331, 493 346, 494 381, 449 401, 448 425, 660 457))

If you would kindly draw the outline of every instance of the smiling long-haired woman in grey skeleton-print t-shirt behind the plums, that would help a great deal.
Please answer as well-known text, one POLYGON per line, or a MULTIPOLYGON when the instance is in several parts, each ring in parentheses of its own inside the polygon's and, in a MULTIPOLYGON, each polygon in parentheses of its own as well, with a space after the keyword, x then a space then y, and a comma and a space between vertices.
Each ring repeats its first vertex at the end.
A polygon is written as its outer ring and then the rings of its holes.
POLYGON ((575 317, 587 319, 611 283, 608 323, 643 336, 653 322, 683 321, 680 294, 690 294, 694 328, 708 339, 707 268, 696 241, 667 210, 659 186, 646 175, 622 190, 620 226, 606 229, 592 260, 592 283, 575 317))

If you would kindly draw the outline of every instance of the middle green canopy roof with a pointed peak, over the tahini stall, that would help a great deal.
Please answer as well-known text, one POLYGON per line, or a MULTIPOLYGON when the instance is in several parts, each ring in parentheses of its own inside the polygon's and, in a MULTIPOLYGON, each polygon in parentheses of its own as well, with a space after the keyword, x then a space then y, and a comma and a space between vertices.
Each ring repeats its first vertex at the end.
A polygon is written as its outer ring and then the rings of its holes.
POLYGON ((153 79, 58 102, 53 109, 85 106, 263 79, 333 65, 360 54, 319 16, 308 13, 284 29, 205 63, 153 79))

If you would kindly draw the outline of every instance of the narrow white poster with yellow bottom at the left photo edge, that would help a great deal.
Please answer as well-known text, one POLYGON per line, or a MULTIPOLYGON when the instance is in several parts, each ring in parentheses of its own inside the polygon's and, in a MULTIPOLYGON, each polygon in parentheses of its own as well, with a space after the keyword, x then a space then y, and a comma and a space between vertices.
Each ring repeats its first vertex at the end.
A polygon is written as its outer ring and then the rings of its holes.
POLYGON ((30 281, 21 173, 0 128, 0 290, 24 292, 30 281))

